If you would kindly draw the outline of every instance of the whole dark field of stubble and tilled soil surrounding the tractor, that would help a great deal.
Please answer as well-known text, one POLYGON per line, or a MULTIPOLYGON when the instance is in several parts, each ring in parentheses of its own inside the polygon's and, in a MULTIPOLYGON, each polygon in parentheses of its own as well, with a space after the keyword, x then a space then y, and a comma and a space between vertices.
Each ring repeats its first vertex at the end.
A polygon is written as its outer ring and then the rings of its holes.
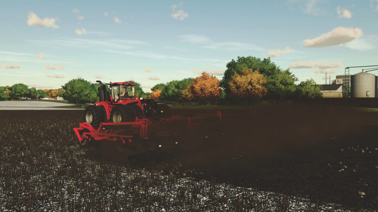
POLYGON ((223 111, 237 113, 224 137, 197 150, 128 164, 79 148, 82 111, 1 111, 0 211, 378 210, 375 112, 254 111, 223 111))

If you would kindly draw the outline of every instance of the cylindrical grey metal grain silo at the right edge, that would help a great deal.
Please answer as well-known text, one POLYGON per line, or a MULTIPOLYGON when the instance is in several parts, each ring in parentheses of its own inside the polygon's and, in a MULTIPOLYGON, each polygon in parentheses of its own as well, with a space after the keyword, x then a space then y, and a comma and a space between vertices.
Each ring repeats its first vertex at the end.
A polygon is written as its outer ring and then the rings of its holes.
POLYGON ((377 77, 367 72, 359 72, 350 78, 350 97, 376 97, 377 77))

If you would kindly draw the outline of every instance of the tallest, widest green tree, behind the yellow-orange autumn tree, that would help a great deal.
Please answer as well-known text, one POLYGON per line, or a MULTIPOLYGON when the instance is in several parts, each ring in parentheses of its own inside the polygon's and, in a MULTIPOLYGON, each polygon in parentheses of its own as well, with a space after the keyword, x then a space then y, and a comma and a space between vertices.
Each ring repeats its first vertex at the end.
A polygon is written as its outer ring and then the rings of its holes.
POLYGON ((294 82, 298 81, 298 79, 289 69, 282 71, 279 66, 276 66, 276 64, 270 60, 270 57, 264 58, 263 60, 251 56, 238 57, 236 61, 232 59, 227 63, 226 68, 220 85, 227 96, 231 96, 228 82, 231 80, 234 73, 241 74, 242 68, 259 70, 260 73, 267 78, 267 96, 270 98, 288 99, 292 98, 295 93, 294 82))

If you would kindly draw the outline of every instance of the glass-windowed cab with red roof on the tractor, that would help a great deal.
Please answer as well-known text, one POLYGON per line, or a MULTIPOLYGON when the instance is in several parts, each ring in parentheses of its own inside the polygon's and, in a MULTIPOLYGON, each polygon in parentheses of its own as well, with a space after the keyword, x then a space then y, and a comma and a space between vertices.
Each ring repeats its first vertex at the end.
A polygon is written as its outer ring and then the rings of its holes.
POLYGON ((135 98, 135 83, 110 83, 112 91, 112 99, 114 102, 124 100, 126 98, 135 98))

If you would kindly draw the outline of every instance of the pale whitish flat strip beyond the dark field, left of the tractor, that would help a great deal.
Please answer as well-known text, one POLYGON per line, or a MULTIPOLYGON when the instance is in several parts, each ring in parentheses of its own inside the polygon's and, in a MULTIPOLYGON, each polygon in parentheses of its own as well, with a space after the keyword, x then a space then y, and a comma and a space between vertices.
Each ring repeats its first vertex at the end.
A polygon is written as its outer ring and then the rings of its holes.
POLYGON ((68 108, 52 108, 70 105, 72 104, 51 101, 0 101, 0 110, 73 110, 68 108))

